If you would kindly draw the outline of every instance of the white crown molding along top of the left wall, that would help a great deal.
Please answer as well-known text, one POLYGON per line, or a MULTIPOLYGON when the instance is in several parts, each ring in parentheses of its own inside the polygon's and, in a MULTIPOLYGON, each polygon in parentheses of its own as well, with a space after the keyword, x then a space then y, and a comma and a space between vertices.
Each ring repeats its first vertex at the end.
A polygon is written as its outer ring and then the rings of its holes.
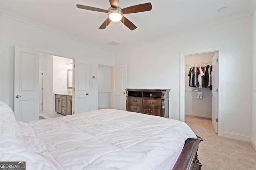
POLYGON ((103 45, 99 45, 98 43, 94 43, 92 41, 88 41, 88 40, 86 40, 86 39, 84 39, 82 37, 79 37, 79 36, 76 36, 76 35, 73 35, 73 34, 70 34, 70 33, 64 32, 64 31, 61 31, 59 29, 55 29, 55 28, 50 27, 48 25, 44 25, 42 23, 36 22, 34 20, 30 20, 28 18, 25 18, 23 16, 19 16, 17 14, 14 14, 12 12, 8 12, 8 11, 3 10, 3 9, 0 9, 0 15, 4 16, 4 17, 7 17, 7 18, 10 18, 10 19, 13 19, 13 20, 16 20, 16 21, 19 21, 19 22, 22 22, 22 23, 25 23, 27 25, 31 25, 33 27, 37 27, 37 28, 43 29, 45 31, 49 31, 51 33, 55 33, 57 35, 61 35, 63 37, 66 37, 66 38, 78 41, 80 43, 84 43, 86 45, 90 45, 92 47, 96 47, 98 49, 102 49, 102 50, 105 50, 105 51, 108 51, 108 52, 112 52, 112 53, 114 52, 114 50, 112 48, 108 48, 108 47, 105 47, 103 45))

